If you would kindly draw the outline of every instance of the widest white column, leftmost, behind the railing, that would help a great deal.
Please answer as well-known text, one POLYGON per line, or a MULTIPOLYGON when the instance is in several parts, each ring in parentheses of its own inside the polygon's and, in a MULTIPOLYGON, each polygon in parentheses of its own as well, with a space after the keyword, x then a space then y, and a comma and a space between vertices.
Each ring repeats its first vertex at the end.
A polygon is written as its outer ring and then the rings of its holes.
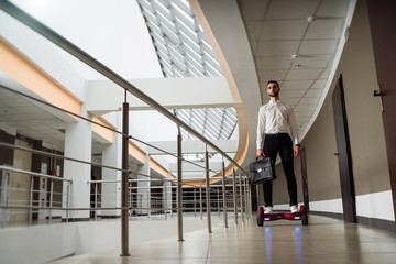
MULTIPOLYGON (((91 118, 85 110, 82 116, 91 118)), ((92 152, 92 124, 85 120, 68 123, 65 132, 65 156, 76 160, 91 162, 92 152)), ((90 207, 90 164, 72 162, 65 160, 64 162, 64 178, 72 179, 69 208, 89 208, 90 207)), ((63 188, 63 205, 66 207, 66 184, 63 188)), ((68 217, 74 220, 89 219, 89 210, 69 211, 68 217)), ((63 218, 66 218, 66 211, 63 212, 63 218)))

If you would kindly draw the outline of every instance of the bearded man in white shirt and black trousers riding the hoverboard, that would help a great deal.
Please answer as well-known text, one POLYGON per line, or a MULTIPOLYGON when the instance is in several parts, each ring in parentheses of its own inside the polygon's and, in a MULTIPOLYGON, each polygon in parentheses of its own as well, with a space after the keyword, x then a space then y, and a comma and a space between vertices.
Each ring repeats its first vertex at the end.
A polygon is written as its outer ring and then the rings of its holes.
MULTIPOLYGON (((257 157, 270 156, 275 166, 276 155, 279 153, 282 165, 287 179, 287 188, 290 197, 292 213, 299 212, 297 202, 297 183, 294 174, 294 156, 300 154, 300 144, 297 134, 297 124, 293 108, 279 101, 280 87, 276 80, 267 84, 267 94, 271 97, 268 103, 262 106, 258 111, 257 124, 257 157), (292 132, 293 141, 288 129, 292 132), (294 156, 293 156, 294 155, 294 156)), ((263 184, 264 213, 273 212, 273 182, 263 184)))

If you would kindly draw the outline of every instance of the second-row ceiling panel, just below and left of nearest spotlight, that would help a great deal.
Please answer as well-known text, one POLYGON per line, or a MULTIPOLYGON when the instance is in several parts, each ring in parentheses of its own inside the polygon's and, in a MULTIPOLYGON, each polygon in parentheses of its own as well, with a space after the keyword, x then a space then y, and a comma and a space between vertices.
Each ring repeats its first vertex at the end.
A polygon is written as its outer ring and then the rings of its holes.
POLYGON ((261 41, 301 40, 308 22, 305 20, 265 21, 260 36, 261 41))

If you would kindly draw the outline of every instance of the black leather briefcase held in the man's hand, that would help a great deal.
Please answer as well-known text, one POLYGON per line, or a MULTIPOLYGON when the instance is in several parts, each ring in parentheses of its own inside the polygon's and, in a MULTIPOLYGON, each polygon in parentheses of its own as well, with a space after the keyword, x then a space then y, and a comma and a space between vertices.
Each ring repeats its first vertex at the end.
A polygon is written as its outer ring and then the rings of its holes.
POLYGON ((251 183, 252 184, 263 184, 267 180, 275 179, 275 172, 271 166, 271 158, 263 157, 257 160, 249 165, 251 173, 251 183))

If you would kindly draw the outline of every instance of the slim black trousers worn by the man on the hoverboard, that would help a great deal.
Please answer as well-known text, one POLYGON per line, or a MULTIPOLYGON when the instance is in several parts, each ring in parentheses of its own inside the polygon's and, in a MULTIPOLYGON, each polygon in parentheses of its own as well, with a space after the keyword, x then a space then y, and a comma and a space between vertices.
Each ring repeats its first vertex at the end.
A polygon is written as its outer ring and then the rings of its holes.
MULTIPOLYGON (((265 156, 271 157, 273 167, 275 167, 276 155, 279 153, 286 175, 290 206, 297 205, 297 182, 294 174, 294 150, 290 136, 287 133, 265 134, 263 151, 265 156)), ((263 189, 265 206, 273 206, 273 182, 264 183, 263 189)))

